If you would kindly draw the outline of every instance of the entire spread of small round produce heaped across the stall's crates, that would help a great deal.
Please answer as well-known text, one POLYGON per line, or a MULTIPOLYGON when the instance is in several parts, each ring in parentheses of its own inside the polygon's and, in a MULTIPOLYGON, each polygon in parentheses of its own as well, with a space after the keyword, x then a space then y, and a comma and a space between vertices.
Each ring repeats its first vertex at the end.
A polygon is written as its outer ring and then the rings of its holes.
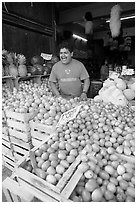
MULTIPOLYGON (((76 117, 56 128, 54 136, 35 151, 37 170, 28 161, 24 169, 50 184, 57 185, 66 170, 80 155, 77 170, 82 176, 69 199, 75 202, 134 202, 135 201, 135 111, 126 103, 115 103, 115 98, 133 88, 133 83, 122 79, 108 79, 105 90, 113 88, 113 100, 56 98, 47 79, 42 84, 21 81, 19 89, 11 92, 2 87, 3 110, 19 113, 37 110, 33 121, 56 126, 61 115, 81 105, 76 117), (109 84, 109 85, 108 85, 109 84), (114 101, 114 103, 113 103, 114 101)), ((133 90, 133 89, 132 89, 133 90)), ((100 90, 100 92, 103 92, 100 90)), ((125 95, 126 95, 125 94, 125 95)), ((124 96, 125 97, 125 96, 124 96)), ((119 99, 119 98, 118 98, 119 99)))

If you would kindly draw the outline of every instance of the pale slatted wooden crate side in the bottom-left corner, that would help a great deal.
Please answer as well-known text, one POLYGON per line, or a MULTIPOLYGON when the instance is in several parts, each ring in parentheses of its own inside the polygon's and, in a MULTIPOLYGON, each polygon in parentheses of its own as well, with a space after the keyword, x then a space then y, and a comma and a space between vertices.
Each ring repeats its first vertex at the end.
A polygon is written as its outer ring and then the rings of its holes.
MULTIPOLYGON (((39 191, 27 182, 18 182, 15 174, 6 178, 2 190, 7 202, 57 202, 55 198, 39 191)), ((68 200, 69 201, 69 200, 68 200)))

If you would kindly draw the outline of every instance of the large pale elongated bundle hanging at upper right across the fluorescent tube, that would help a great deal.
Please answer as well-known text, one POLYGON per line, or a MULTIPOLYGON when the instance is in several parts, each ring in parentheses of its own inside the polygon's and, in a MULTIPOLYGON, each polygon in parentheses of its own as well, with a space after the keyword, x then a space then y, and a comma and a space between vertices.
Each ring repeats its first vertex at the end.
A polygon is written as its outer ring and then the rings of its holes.
POLYGON ((109 26, 113 38, 118 37, 120 34, 121 28, 120 13, 121 13, 120 5, 116 4, 115 6, 112 7, 109 26))

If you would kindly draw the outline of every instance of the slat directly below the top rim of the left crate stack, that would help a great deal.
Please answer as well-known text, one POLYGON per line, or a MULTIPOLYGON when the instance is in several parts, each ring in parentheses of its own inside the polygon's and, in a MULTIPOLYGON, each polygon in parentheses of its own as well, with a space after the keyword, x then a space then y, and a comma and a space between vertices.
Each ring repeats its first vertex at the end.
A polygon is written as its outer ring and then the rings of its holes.
POLYGON ((24 131, 24 132, 29 132, 30 131, 29 124, 14 121, 14 120, 9 119, 9 118, 7 119, 7 125, 8 125, 8 127, 12 127, 12 128, 14 128, 16 130, 21 130, 21 131, 24 131))

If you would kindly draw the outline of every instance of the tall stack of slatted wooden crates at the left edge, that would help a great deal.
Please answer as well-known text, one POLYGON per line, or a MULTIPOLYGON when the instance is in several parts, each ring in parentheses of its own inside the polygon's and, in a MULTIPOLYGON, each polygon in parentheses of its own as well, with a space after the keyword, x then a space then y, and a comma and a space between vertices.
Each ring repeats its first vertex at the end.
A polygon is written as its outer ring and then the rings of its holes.
POLYGON ((16 113, 10 110, 5 111, 10 144, 12 146, 15 161, 28 154, 33 147, 31 142, 29 120, 36 113, 16 113))

